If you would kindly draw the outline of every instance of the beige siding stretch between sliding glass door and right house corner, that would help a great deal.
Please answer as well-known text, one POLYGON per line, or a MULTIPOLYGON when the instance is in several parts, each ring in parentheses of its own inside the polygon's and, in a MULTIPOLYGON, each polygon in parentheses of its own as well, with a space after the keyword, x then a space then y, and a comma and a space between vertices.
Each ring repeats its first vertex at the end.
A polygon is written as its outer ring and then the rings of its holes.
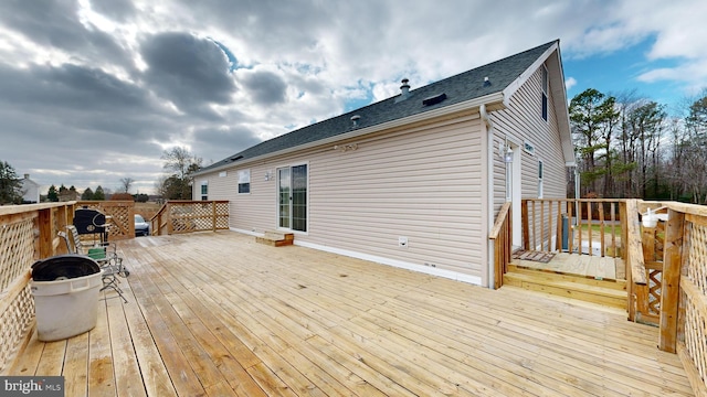
POLYGON ((307 240, 481 277, 479 126, 429 127, 313 159, 307 240))

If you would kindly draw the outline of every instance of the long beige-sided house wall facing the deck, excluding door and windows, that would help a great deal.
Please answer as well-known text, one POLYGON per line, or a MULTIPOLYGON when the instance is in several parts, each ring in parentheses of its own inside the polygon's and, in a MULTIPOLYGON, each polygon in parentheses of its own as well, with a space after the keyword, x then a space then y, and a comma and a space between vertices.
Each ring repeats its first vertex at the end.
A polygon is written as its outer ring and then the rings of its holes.
POLYGON ((208 180, 209 200, 231 201, 233 229, 262 233, 277 227, 277 169, 306 163, 308 232, 296 234, 297 244, 449 270, 481 283, 487 227, 478 114, 354 142, 357 150, 327 144, 239 165, 224 176, 201 175, 194 186, 208 180), (238 194, 242 169, 251 170, 250 194, 238 194), (408 238, 407 247, 399 237, 408 238))

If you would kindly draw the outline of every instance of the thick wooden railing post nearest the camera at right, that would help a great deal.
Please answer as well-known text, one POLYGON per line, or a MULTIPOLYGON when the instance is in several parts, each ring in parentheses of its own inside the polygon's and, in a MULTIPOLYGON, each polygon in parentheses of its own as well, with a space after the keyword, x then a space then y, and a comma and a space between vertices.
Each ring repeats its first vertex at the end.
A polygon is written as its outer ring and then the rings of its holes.
POLYGON ((675 353, 683 264, 683 233, 685 214, 668 210, 663 249, 663 279, 661 286, 661 335, 658 348, 675 353))

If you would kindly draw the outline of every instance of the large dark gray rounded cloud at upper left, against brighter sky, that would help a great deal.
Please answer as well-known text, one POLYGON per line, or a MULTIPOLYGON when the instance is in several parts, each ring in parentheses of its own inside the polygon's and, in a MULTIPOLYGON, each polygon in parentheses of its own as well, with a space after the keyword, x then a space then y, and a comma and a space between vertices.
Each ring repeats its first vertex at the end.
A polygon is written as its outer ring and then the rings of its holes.
POLYGON ((159 33, 146 37, 140 52, 149 67, 147 84, 180 108, 231 103, 235 83, 225 54, 212 41, 189 33, 159 33))

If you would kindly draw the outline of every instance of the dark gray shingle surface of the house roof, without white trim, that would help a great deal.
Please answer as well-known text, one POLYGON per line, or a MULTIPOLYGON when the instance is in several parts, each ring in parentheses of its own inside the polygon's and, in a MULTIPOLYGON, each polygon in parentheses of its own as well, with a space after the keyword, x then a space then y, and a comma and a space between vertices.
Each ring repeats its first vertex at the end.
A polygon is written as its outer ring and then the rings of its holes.
POLYGON ((354 115, 360 116, 358 127, 356 127, 356 129, 360 129, 500 93, 556 42, 552 41, 500 61, 412 89, 405 100, 395 101, 400 96, 397 95, 263 141, 203 168, 199 173, 351 132, 354 130, 351 116, 354 115), (488 77, 489 85, 484 84, 485 77, 488 77), (423 99, 441 94, 446 95, 446 98, 441 103, 430 106, 423 105, 423 99))

